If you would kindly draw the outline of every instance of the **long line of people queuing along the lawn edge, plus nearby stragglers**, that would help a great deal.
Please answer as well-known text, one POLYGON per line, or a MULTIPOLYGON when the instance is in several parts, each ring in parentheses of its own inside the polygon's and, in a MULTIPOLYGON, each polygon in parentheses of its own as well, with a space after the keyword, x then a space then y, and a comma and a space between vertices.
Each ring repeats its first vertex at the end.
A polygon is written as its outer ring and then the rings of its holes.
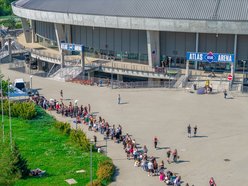
MULTIPOLYGON (((132 138, 128 133, 123 134, 123 129, 121 125, 110 125, 105 119, 101 116, 96 118, 95 115, 91 112, 91 105, 87 106, 80 105, 78 106, 77 100, 74 103, 69 102, 68 105, 63 102, 63 91, 60 91, 60 100, 50 99, 47 100, 43 96, 34 96, 32 100, 43 109, 56 111, 58 114, 61 114, 64 117, 75 118, 77 124, 83 124, 88 126, 89 131, 99 132, 102 135, 105 135, 107 139, 113 140, 115 143, 120 143, 123 145, 124 152, 128 160, 134 161, 135 167, 142 168, 147 172, 148 176, 158 176, 160 181, 165 182, 167 185, 180 186, 181 185, 181 176, 173 173, 170 170, 167 170, 165 163, 162 160, 159 164, 157 159, 148 154, 148 148, 146 145, 143 148, 139 147, 136 143, 136 140, 132 138)), ((119 96, 120 97, 120 96, 119 96)), ((118 97, 118 103, 119 103, 118 97)), ((197 127, 194 128, 194 135, 196 135, 197 127), (195 129, 196 128, 196 129, 195 129)), ((188 126, 188 133, 191 135, 191 127, 188 126)), ((94 135, 95 145, 97 144, 97 138, 94 135)), ((157 149, 158 138, 155 136, 153 139, 154 148, 157 149)), ((97 147, 97 145, 96 145, 97 147)), ((102 150, 99 148, 98 152, 102 150)), ((167 163, 177 163, 178 162, 178 152, 177 149, 171 150, 168 149, 166 152, 167 163)))

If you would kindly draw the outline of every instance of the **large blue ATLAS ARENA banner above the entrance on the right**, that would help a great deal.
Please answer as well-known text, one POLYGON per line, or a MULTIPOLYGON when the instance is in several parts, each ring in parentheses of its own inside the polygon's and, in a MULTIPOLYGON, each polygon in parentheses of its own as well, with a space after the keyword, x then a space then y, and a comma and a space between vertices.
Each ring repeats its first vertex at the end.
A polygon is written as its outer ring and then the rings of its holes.
POLYGON ((234 62, 234 54, 187 52, 186 59, 200 62, 234 62))

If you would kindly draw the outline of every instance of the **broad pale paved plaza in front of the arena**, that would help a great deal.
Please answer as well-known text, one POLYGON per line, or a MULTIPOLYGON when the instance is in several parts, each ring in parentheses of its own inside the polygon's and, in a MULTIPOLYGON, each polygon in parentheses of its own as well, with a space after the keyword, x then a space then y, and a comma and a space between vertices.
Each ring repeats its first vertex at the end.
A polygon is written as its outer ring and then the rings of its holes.
MULTIPOLYGON (((2 72, 11 81, 29 75, 9 71, 1 65, 2 72)), ((33 76, 33 88, 41 88, 46 98, 79 100, 79 105, 91 104, 93 112, 111 125, 121 124, 141 146, 147 145, 148 155, 166 161, 170 147, 178 150, 180 162, 165 164, 179 173, 186 182, 195 186, 208 186, 214 177, 218 186, 245 186, 248 182, 248 97, 234 96, 224 99, 223 94, 196 95, 185 91, 166 89, 111 90, 97 86, 83 86, 33 76), (117 104, 118 94, 123 104, 117 104), (187 125, 198 126, 198 137, 187 137, 187 125), (153 138, 158 137, 158 147, 153 148, 153 138), (228 159, 230 161, 224 161, 228 159)), ((103 138, 99 136, 99 139, 103 138)), ((148 177, 141 168, 127 160, 122 145, 109 142, 108 155, 118 168, 116 181, 111 185, 165 185, 158 177, 148 177)))

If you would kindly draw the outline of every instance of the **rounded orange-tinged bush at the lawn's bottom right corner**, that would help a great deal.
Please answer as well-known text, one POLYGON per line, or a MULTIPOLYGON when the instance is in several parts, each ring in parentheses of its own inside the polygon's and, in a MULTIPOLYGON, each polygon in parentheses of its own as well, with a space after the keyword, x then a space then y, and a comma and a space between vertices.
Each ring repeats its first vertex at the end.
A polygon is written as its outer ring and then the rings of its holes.
POLYGON ((112 180, 114 174, 114 164, 112 160, 100 162, 97 169, 97 178, 103 185, 107 185, 112 180))

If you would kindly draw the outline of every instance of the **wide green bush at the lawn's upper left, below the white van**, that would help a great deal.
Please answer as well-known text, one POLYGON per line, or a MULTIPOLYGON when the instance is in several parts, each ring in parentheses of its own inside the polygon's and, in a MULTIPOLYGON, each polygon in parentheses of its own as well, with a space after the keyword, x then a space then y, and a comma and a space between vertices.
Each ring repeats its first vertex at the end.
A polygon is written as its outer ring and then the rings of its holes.
MULTIPOLYGON (((8 100, 4 100, 3 110, 5 115, 9 114, 8 100)), ((22 119, 33 119, 37 115, 35 104, 33 102, 10 101, 10 110, 12 117, 20 117, 22 119)))

